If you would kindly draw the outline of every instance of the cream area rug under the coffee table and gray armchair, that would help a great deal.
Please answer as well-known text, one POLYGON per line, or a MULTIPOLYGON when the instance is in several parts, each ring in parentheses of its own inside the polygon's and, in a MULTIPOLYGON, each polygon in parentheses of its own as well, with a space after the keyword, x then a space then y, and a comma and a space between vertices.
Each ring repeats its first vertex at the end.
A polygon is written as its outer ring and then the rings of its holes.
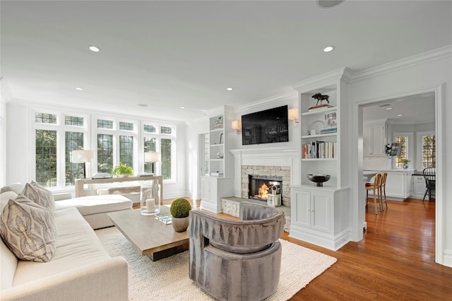
MULTIPOLYGON (((110 256, 129 262, 129 300, 214 300, 189 278, 189 252, 159 261, 139 254, 115 227, 96 230, 110 256)), ((266 300, 289 300, 337 259, 280 240, 283 245, 280 283, 266 300)))

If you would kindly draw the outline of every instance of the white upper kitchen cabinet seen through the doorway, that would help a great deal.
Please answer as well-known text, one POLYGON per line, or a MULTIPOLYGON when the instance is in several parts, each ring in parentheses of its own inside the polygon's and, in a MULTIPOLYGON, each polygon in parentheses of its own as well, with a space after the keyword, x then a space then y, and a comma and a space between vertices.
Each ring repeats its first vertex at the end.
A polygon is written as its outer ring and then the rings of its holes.
POLYGON ((364 122, 362 138, 365 156, 386 155, 386 120, 364 122))

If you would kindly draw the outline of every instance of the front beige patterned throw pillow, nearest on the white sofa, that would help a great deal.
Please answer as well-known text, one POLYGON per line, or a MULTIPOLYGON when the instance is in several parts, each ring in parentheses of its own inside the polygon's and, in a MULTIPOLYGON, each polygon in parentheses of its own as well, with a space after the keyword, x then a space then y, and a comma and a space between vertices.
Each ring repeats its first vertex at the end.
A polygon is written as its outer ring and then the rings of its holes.
POLYGON ((19 194, 1 213, 0 235, 18 259, 47 262, 57 240, 54 213, 19 194))

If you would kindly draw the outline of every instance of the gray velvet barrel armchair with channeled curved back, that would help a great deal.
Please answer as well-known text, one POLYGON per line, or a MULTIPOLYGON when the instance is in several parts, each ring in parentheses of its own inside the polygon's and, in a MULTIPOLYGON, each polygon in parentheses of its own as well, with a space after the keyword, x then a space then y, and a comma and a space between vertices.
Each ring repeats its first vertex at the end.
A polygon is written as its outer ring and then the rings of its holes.
POLYGON ((262 300, 280 279, 284 212, 240 203, 240 220, 190 211, 190 279, 219 300, 262 300))

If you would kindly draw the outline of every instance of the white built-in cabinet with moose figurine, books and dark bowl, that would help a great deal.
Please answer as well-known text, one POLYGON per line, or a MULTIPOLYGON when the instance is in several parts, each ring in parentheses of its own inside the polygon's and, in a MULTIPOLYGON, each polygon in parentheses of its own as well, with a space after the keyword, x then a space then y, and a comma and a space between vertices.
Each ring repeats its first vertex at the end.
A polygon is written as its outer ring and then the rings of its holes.
POLYGON ((350 241, 347 69, 311 78, 295 88, 299 91, 301 175, 291 189, 290 236, 337 250, 350 241), (332 107, 309 110, 316 106, 312 98, 316 93, 328 95, 332 107), (321 134, 331 116, 335 117, 336 131, 321 134), (329 155, 306 155, 307 145, 322 143, 323 147, 328 145, 329 155), (308 174, 331 175, 331 179, 316 187, 307 179, 308 174))

